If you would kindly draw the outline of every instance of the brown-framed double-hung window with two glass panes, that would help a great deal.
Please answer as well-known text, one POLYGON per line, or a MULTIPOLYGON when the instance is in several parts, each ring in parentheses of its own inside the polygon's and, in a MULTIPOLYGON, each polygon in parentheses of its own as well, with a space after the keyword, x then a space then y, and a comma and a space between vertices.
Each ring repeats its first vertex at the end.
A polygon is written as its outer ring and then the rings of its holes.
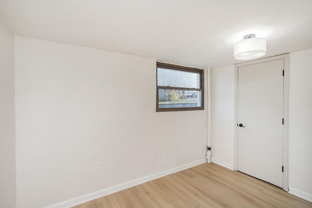
POLYGON ((204 70, 157 62, 156 112, 204 110, 204 70))

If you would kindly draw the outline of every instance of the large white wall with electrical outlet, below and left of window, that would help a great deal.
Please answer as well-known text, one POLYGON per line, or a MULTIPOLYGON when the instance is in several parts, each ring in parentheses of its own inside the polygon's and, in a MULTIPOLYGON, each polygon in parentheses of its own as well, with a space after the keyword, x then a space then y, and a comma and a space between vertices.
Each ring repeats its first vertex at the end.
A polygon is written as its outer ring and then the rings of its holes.
POLYGON ((15 50, 18 208, 204 162, 207 111, 156 113, 155 59, 20 37, 15 50))

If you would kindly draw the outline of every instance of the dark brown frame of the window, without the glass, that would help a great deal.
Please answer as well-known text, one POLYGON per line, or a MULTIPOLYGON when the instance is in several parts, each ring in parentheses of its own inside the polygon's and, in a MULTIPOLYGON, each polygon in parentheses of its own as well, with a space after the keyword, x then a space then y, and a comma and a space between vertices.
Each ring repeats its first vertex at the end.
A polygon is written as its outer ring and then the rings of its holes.
POLYGON ((162 63, 162 62, 156 62, 156 112, 170 112, 170 111, 198 111, 198 110, 204 110, 204 70, 203 69, 197 69, 197 68, 191 68, 186 66, 179 66, 169 63, 162 63), (176 70, 176 71, 182 71, 182 72, 192 72, 197 73, 200 76, 200 88, 183 88, 183 87, 164 87, 164 86, 158 86, 158 70, 157 68, 163 68, 163 69, 170 69, 170 70, 176 70), (200 98, 201 98, 201 106, 200 107, 177 107, 177 108, 159 108, 158 106, 158 92, 159 89, 169 89, 169 90, 188 90, 188 91, 199 91, 200 92, 200 98))

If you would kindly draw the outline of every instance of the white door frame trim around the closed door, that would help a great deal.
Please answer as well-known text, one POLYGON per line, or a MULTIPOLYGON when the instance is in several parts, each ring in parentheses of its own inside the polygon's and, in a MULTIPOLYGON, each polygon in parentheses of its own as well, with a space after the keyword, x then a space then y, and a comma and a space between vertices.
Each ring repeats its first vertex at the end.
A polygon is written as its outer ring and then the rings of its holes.
POLYGON ((257 63, 263 63, 273 60, 283 59, 284 62, 284 125, 283 125, 283 189, 289 191, 288 188, 288 97, 289 97, 289 54, 283 54, 274 57, 261 58, 254 61, 248 61, 244 63, 235 64, 235 93, 234 93, 234 170, 237 171, 237 148, 238 148, 238 134, 237 134, 237 124, 238 124, 238 67, 248 66, 257 63))

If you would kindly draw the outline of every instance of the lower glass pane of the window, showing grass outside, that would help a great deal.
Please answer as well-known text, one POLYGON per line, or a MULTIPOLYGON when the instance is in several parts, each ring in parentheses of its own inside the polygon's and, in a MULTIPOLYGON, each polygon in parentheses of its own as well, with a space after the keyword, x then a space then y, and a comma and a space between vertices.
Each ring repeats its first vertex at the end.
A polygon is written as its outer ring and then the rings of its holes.
POLYGON ((201 92, 158 89, 158 108, 201 107, 201 92))

